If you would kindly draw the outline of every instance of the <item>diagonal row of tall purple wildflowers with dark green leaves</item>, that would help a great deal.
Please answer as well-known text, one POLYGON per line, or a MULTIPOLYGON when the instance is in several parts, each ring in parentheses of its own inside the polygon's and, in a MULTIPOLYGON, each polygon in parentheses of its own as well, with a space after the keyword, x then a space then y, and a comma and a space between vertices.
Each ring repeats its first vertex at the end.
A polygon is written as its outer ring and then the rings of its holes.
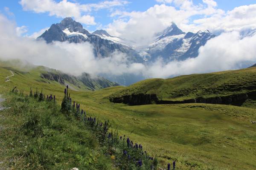
MULTIPOLYGON (((17 94, 17 88, 15 87, 12 92, 17 94)), ((23 94, 23 91, 20 92, 23 94)), ((30 97, 38 99, 38 102, 47 101, 55 103, 55 96, 32 93, 30 89, 30 97)), ((143 145, 134 143, 128 136, 119 136, 118 130, 113 130, 108 120, 101 122, 96 117, 87 115, 87 113, 80 109, 80 104, 75 101, 72 102, 70 94, 68 94, 68 86, 64 89, 64 98, 61 103, 61 112, 66 113, 67 116, 75 116, 77 119, 82 121, 84 125, 89 128, 96 137, 99 144, 102 146, 102 151, 106 156, 109 156, 116 167, 120 170, 157 170, 157 157, 151 157, 147 151, 143 150, 143 145)), ((175 170, 175 161, 173 162, 173 169, 175 170)), ((167 165, 167 170, 170 170, 171 164, 167 165)))

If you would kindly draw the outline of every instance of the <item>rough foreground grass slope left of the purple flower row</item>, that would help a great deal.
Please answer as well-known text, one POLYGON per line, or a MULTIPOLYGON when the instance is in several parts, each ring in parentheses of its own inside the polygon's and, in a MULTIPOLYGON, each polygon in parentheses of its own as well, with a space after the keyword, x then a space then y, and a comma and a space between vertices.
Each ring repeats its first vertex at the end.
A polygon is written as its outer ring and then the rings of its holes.
POLYGON ((91 131, 61 113, 56 103, 5 97, 9 109, 0 111, 1 170, 114 169, 91 131))

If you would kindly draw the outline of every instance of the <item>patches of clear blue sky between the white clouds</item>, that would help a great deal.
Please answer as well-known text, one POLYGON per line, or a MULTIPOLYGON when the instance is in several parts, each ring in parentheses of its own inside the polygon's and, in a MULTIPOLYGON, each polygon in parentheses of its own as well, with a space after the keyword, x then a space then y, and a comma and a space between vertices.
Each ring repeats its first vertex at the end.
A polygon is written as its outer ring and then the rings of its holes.
MULTIPOLYGON (((52 23, 58 23, 62 20, 62 17, 57 17, 55 15, 49 16, 49 12, 44 13, 36 13, 35 11, 23 10, 23 7, 19 3, 20 0, 1 0, 0 1, 0 11, 2 14, 5 14, 9 20, 14 20, 17 23, 17 26, 26 26, 27 32, 26 34, 30 35, 36 31, 40 31, 42 28, 49 27, 52 23), (9 11, 6 11, 7 8, 9 11), (13 13, 13 15, 11 14, 13 13)), ((61 0, 55 0, 56 3, 61 0)), ((88 3, 100 3, 102 0, 67 0, 71 3, 79 3, 79 4, 88 4, 88 3)), ((215 0, 218 4, 218 8, 229 11, 233 10, 233 8, 243 5, 250 5, 256 3, 256 0, 215 0)), ((89 31, 94 31, 99 26, 107 26, 109 23, 112 23, 113 20, 117 19, 116 17, 110 17, 110 14, 114 10, 120 11, 146 11, 148 8, 160 4, 157 3, 156 0, 128 0, 129 3, 123 6, 116 6, 113 8, 103 8, 96 11, 90 11, 87 14, 93 16, 95 18, 96 25, 86 25, 83 24, 84 27, 89 31), (101 24, 101 25, 100 25, 101 24)), ((202 3, 202 0, 193 0, 193 3, 199 4, 202 3)), ((169 4, 173 6, 173 4, 169 4)), ((197 16, 193 16, 192 18, 197 18, 197 16)))

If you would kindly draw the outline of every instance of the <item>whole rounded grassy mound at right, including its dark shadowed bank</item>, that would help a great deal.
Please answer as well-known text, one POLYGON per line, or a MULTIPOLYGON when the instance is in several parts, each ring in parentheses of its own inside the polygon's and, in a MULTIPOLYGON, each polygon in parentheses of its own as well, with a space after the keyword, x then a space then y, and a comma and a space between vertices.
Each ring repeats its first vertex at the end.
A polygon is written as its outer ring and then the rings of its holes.
POLYGON ((255 107, 256 68, 147 79, 116 92, 110 99, 130 105, 198 102, 255 107))

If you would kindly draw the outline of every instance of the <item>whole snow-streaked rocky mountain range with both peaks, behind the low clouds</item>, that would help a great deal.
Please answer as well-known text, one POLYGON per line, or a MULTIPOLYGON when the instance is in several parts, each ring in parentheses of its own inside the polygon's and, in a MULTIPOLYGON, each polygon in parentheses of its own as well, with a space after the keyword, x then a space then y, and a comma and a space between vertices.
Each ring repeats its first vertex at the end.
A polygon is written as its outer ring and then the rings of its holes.
MULTIPOLYGON (((154 41, 148 45, 137 45, 131 40, 115 37, 105 30, 96 30, 90 33, 83 28, 81 23, 74 21, 71 17, 64 18, 61 23, 52 24, 37 39, 44 39, 47 43, 53 41, 68 41, 70 43, 89 42, 93 45, 96 57, 109 57, 114 51, 120 51, 128 57, 127 61, 149 63, 154 62, 159 57, 165 62, 172 60, 184 60, 189 57, 197 57, 198 49, 205 45, 208 40, 215 37, 208 30, 197 33, 183 32, 175 23, 165 30, 154 35, 154 41)), ((111 76, 111 81, 116 81, 122 85, 134 83, 131 75, 111 76)), ((138 77, 142 80, 144 77, 138 77)))

